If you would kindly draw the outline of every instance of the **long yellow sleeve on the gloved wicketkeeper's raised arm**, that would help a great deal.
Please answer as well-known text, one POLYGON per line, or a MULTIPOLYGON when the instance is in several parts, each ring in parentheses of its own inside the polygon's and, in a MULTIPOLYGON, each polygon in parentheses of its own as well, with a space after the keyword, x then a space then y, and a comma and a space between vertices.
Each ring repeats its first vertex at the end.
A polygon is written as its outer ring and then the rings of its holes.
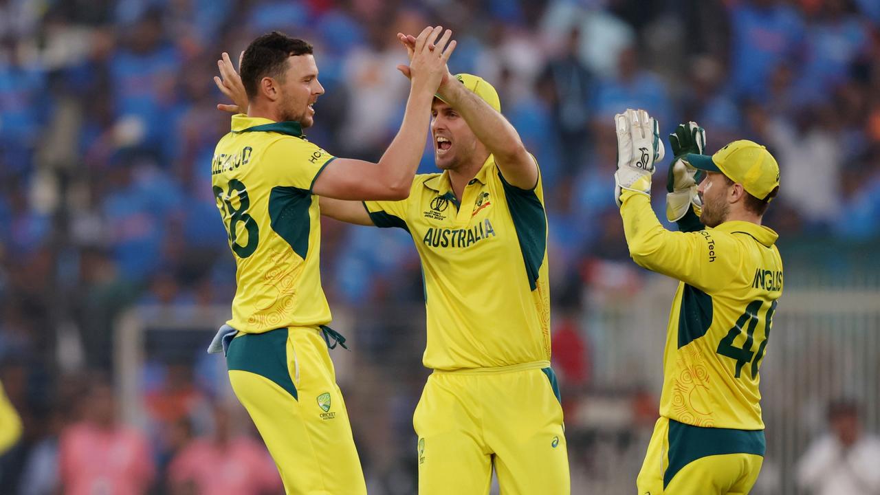
POLYGON ((629 253, 639 266, 708 293, 727 287, 739 273, 741 247, 729 233, 671 232, 660 225, 648 196, 623 191, 620 198, 629 253))

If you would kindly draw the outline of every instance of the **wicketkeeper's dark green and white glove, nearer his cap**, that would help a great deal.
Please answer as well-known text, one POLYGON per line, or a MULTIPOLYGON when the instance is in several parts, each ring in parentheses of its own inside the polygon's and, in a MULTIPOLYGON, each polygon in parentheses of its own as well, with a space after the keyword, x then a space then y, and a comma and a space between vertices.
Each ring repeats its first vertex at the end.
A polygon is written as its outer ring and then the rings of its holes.
POLYGON ((697 122, 678 124, 675 132, 669 135, 669 144, 675 159, 669 167, 666 178, 666 218, 677 222, 683 218, 693 204, 693 212, 700 217, 703 204, 697 195, 697 169, 686 162, 687 153, 705 154, 706 130, 697 122))

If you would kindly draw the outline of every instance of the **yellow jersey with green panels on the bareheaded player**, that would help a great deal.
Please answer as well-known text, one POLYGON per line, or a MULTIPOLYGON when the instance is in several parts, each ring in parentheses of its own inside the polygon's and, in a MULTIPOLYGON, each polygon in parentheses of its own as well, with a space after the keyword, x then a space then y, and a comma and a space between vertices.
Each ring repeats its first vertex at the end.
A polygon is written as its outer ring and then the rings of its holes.
POLYGON ((232 328, 260 333, 330 321, 312 185, 333 159, 305 140, 298 122, 232 117, 211 162, 217 210, 237 264, 232 328))

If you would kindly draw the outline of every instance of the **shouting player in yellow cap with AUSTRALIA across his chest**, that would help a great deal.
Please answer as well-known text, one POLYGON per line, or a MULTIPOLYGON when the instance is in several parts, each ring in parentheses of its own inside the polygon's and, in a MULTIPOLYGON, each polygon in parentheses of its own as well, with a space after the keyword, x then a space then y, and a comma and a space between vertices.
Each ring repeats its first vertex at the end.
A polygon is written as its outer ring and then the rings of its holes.
MULTIPOLYGON (((414 38, 400 36, 412 55, 414 38)), ((567 494, 568 453, 550 367, 547 220, 538 164, 470 74, 437 90, 431 137, 439 174, 404 200, 321 197, 325 215, 399 227, 422 260, 434 370, 414 413, 419 493, 567 494)))

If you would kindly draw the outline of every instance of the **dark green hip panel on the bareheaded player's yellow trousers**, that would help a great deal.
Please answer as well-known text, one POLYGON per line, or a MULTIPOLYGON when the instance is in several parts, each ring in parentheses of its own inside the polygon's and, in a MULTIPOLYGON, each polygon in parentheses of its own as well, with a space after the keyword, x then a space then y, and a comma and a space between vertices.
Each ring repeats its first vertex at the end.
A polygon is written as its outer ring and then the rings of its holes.
POLYGON ((246 371, 264 376, 299 400, 297 388, 290 380, 290 371, 287 369, 287 336, 287 329, 275 329, 233 338, 226 353, 226 366, 229 371, 246 371))

